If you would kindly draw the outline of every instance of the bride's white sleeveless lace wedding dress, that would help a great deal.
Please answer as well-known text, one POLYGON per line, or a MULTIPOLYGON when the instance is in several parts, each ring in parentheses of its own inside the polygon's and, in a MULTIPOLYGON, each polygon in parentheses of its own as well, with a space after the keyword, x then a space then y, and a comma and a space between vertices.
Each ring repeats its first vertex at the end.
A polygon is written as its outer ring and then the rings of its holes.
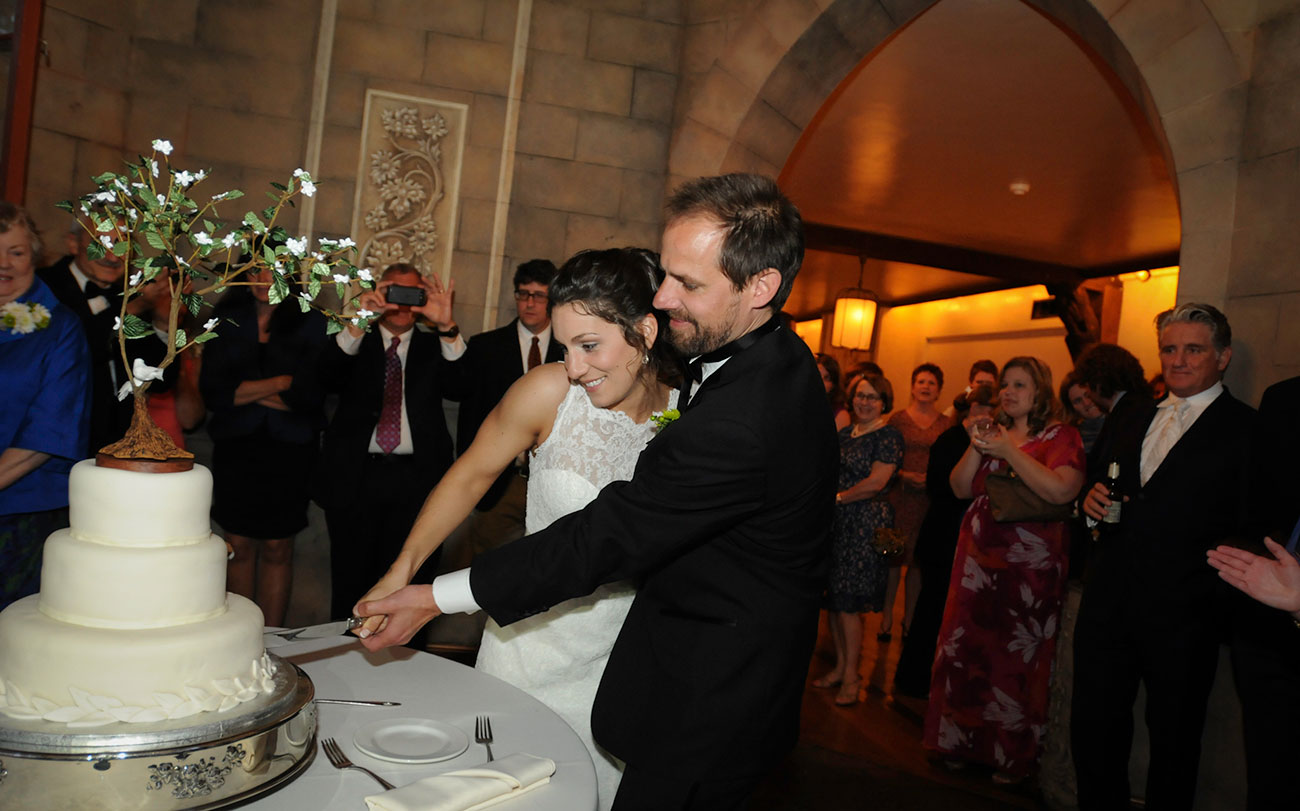
MULTIPOLYGON (((673 391, 668 407, 676 400, 673 391)), ((632 478, 653 435, 653 421, 638 425, 623 412, 597 408, 581 386, 569 386, 529 463, 528 532, 581 509, 611 481, 632 478)), ((608 584, 507 628, 489 620, 476 665, 568 721, 592 753, 602 810, 614 802, 621 764, 592 740, 592 702, 634 594, 628 582, 608 584)))

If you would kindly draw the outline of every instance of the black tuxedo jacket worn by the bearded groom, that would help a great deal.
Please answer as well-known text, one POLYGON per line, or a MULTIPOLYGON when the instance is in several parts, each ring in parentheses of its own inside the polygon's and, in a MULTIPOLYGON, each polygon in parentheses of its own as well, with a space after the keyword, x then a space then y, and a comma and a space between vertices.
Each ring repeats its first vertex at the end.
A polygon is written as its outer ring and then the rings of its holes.
POLYGON ((632 481, 476 559, 474 598, 502 625, 640 580, 592 710, 629 775, 744 779, 794 743, 826 585, 832 425, 812 355, 777 329, 701 385, 632 481))

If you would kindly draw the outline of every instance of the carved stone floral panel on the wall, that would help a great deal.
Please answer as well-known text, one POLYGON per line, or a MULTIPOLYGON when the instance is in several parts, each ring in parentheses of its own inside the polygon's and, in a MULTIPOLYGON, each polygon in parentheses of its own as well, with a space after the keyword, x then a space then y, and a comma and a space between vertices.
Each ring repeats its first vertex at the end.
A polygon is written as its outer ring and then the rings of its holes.
POLYGON ((467 117, 464 104, 367 91, 352 207, 358 266, 404 261, 447 278, 467 117))

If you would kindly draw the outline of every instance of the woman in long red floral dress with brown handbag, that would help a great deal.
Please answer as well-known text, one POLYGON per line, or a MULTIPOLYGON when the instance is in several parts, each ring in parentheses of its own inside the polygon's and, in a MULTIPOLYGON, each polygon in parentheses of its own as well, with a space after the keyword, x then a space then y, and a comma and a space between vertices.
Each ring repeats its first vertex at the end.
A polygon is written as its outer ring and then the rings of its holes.
POLYGON ((1013 357, 997 421, 972 429, 953 493, 974 498, 962 519, 930 688, 924 743, 953 767, 982 763, 998 782, 1023 780, 1039 759, 1065 597, 1065 521, 993 520, 984 482, 1010 465, 1034 493, 1066 504, 1084 481, 1079 431, 1063 425, 1052 370, 1013 357))

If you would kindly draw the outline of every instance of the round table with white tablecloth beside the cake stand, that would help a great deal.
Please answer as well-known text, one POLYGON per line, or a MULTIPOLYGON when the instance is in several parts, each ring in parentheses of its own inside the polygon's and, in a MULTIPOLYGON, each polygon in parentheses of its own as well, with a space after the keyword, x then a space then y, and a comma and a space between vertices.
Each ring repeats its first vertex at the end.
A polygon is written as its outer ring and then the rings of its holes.
MULTIPOLYGON (((595 768, 582 741, 545 704, 486 673, 408 647, 391 647, 372 654, 352 637, 333 637, 276 645, 266 650, 292 662, 311 676, 316 698, 396 701, 400 707, 355 707, 320 704, 320 738, 334 738, 352 763, 364 766, 389 782, 408 782, 482 766, 486 749, 474 743, 474 717, 488 715, 493 727, 493 754, 502 758, 528 753, 555 762, 551 781, 519 801, 500 805, 504 811, 516 805, 528 811, 592 811, 597 807, 595 768), (363 725, 381 719, 420 717, 459 728, 469 738, 469 749, 441 763, 408 766, 363 754, 352 736, 363 725)), ((256 811, 313 811, 335 808, 364 811, 365 797, 384 789, 361 772, 335 769, 317 745, 316 760, 292 782, 243 808, 256 811)))

